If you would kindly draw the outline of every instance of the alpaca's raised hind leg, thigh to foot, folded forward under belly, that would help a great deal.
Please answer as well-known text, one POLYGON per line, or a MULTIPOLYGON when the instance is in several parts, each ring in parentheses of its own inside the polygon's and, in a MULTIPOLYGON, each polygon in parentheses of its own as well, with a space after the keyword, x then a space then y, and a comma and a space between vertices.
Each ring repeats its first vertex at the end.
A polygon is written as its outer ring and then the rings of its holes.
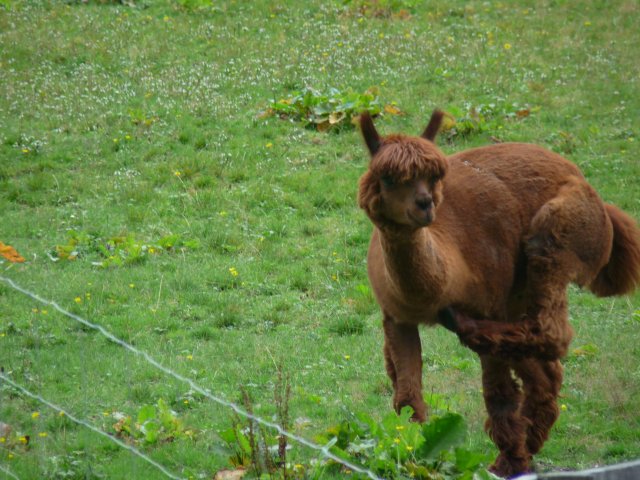
POLYGON ((589 284, 606 262, 610 223, 588 185, 569 182, 534 216, 525 240, 526 314, 512 322, 476 319, 445 309, 439 321, 479 354, 555 360, 566 355, 573 330, 567 285, 589 284))

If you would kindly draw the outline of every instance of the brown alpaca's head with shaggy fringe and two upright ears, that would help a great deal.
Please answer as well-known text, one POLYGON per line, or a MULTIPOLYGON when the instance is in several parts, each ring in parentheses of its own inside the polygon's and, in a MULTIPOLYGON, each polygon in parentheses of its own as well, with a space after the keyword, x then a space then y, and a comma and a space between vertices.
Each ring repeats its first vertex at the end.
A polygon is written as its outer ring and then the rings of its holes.
POLYGON ((418 229, 435 220, 447 171, 446 157, 433 143, 442 117, 435 110, 420 137, 381 137, 371 117, 360 116, 371 161, 360 179, 358 203, 378 227, 418 229))

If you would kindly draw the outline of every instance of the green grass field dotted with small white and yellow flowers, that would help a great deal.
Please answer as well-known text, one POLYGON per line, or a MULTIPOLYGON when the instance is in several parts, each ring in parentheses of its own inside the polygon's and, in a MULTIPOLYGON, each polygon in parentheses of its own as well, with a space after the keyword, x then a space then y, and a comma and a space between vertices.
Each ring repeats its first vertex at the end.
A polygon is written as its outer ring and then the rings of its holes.
MULTIPOLYGON (((382 418, 391 390, 355 202, 360 136, 261 115, 272 102, 373 87, 394 107, 379 129, 407 133, 440 107, 459 121, 446 152, 542 144, 640 218, 634 0, 122 3, 0 0, 0 241, 26 259, 0 274, 215 395, 244 388, 264 418, 288 375, 290 428, 305 438, 352 412, 382 418)), ((640 295, 572 289, 571 302, 542 470, 640 457, 640 295)), ((423 348, 425 394, 494 455, 477 359, 444 329, 424 331, 423 348)), ((230 467, 228 409, 4 282, 0 366, 179 476, 230 467), (165 403, 173 441, 114 427, 165 403)), ((6 384, 0 422, 12 428, 0 467, 18 478, 161 478, 6 384)))

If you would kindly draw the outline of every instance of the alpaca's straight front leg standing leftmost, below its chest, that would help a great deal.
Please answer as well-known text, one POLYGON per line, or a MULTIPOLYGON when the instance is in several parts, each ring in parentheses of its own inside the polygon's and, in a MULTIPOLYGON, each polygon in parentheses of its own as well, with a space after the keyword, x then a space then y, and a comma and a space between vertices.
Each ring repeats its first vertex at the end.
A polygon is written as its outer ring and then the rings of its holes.
POLYGON ((385 315, 384 355, 387 373, 393 382, 393 407, 413 408, 413 419, 424 422, 427 408, 422 398, 422 347, 417 325, 397 324, 385 315))

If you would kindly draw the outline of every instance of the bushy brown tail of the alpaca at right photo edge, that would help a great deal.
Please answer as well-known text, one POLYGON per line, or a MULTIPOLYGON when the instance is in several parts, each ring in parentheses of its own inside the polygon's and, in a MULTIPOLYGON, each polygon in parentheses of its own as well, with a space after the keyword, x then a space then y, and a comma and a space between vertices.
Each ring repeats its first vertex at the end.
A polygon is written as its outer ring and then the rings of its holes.
POLYGON ((625 295, 640 286, 640 228, 619 208, 605 204, 605 210, 613 224, 611 257, 589 290, 599 297, 625 295))

